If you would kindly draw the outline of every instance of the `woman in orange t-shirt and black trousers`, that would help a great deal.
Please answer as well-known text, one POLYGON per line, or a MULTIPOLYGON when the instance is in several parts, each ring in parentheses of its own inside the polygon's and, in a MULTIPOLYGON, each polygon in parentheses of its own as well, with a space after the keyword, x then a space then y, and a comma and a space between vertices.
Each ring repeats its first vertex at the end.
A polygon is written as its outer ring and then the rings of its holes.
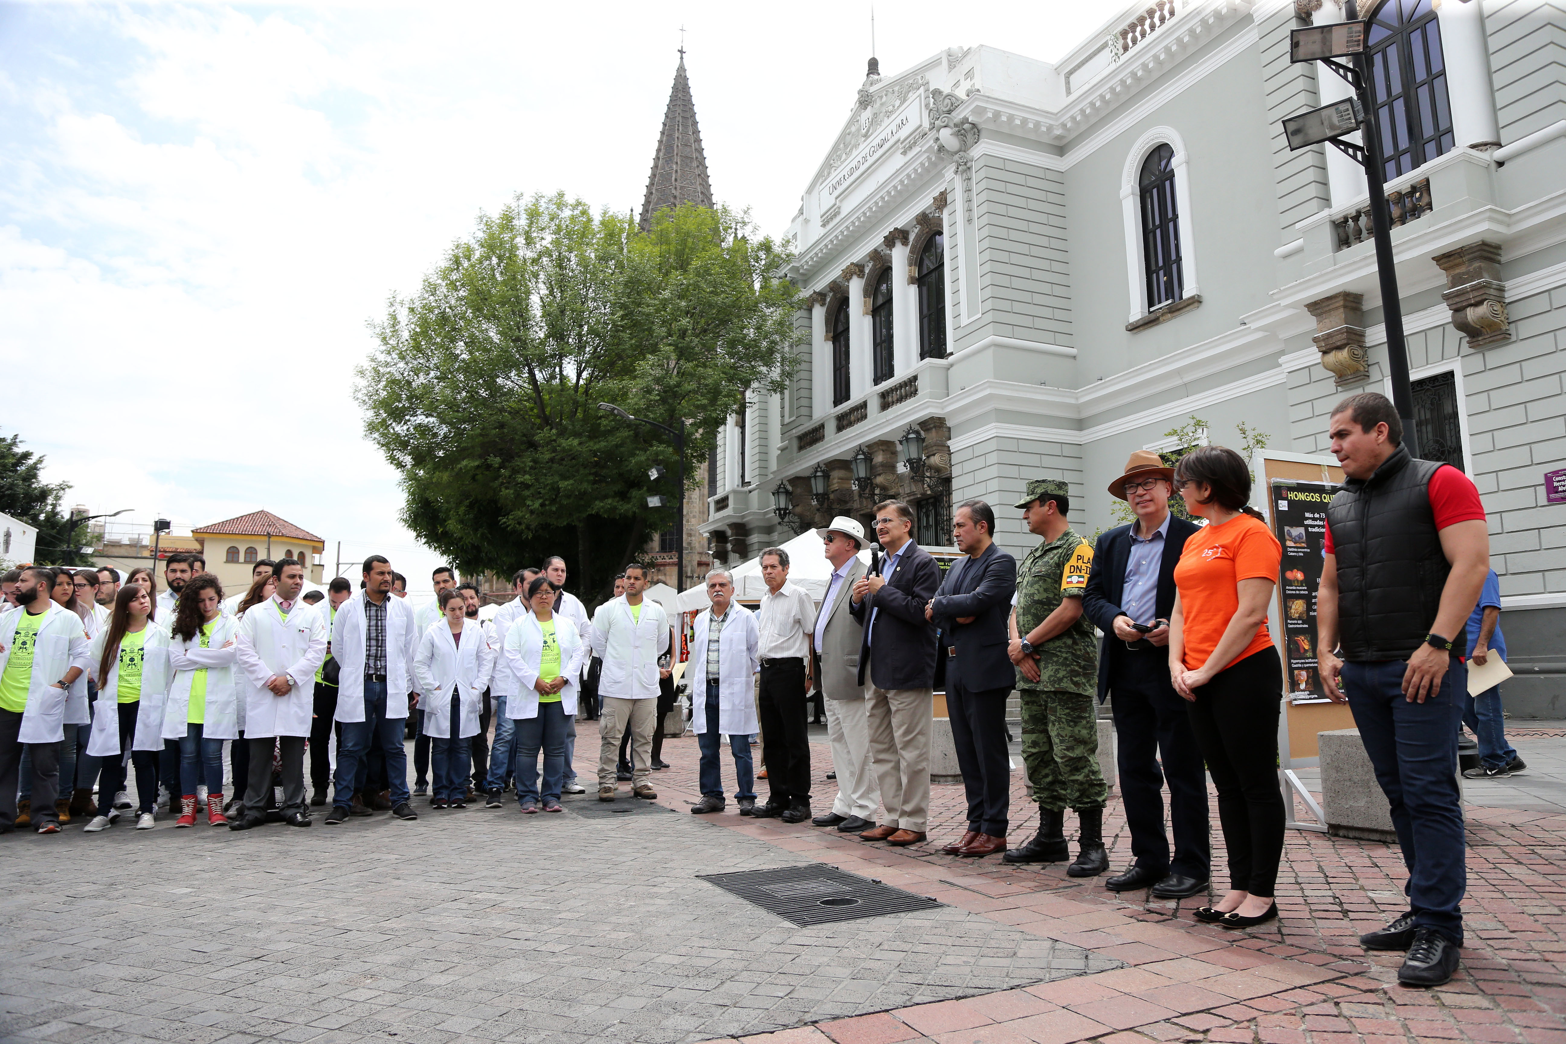
POLYGON ((1250 928, 1278 916, 1273 887, 1286 819, 1278 789, 1283 661, 1267 632, 1267 604, 1283 546, 1247 507, 1251 474, 1232 449, 1200 446, 1181 457, 1174 491, 1207 524, 1185 540, 1174 567, 1170 679, 1187 700, 1229 850, 1231 891, 1195 917, 1250 928))

